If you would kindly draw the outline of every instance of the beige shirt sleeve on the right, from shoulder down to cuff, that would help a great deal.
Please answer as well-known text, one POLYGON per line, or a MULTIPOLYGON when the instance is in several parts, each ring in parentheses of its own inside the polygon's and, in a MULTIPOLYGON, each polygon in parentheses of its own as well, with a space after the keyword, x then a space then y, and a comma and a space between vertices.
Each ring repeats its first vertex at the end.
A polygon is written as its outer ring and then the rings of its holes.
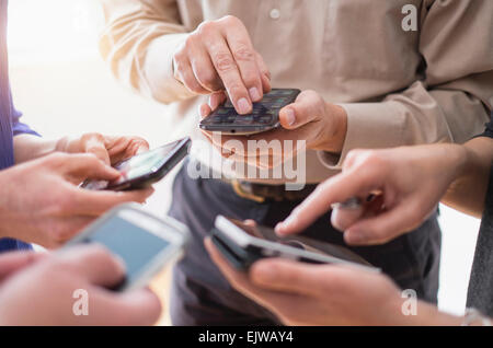
POLYGON ((340 169, 357 148, 466 142, 484 129, 493 104, 493 1, 425 1, 420 53, 423 80, 377 103, 340 104, 347 114, 341 154, 319 152, 340 169))

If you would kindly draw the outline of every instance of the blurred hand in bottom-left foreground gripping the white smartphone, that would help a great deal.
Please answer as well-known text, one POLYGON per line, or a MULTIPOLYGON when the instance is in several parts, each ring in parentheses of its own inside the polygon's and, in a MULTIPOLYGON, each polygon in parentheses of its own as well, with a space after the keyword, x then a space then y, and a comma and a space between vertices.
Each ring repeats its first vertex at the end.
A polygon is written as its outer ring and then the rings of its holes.
POLYGON ((124 275, 124 266, 98 245, 43 257, 0 285, 0 325, 153 324, 161 305, 152 292, 106 290, 124 275), (88 292, 89 315, 73 313, 78 289, 88 292))

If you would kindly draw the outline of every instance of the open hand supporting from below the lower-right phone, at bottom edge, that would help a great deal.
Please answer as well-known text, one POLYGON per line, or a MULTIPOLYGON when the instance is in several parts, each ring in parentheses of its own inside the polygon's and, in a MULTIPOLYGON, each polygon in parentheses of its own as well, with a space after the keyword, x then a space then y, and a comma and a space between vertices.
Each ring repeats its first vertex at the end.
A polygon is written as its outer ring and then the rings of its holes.
POLYGON ((405 320, 399 289, 381 274, 279 258, 256 262, 244 274, 210 240, 206 247, 234 289, 285 325, 398 325, 405 320))

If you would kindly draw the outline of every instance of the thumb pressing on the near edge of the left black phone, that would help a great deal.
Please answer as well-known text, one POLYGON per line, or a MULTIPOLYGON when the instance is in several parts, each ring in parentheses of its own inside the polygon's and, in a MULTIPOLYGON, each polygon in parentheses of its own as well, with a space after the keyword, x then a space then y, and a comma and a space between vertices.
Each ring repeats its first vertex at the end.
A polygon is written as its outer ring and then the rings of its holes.
POLYGON ((94 154, 80 153, 64 156, 61 166, 57 170, 65 174, 70 182, 78 184, 87 178, 114 181, 119 172, 100 161, 94 154))

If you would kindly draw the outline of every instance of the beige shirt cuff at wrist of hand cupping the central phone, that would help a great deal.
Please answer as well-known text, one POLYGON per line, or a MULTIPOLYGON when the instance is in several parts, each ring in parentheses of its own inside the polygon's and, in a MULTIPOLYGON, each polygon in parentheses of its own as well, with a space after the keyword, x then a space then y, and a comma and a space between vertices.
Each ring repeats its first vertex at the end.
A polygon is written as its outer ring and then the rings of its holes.
POLYGON ((337 104, 346 111, 347 132, 341 153, 318 151, 331 170, 341 170, 351 150, 382 149, 404 144, 402 125, 405 113, 397 102, 337 104))

